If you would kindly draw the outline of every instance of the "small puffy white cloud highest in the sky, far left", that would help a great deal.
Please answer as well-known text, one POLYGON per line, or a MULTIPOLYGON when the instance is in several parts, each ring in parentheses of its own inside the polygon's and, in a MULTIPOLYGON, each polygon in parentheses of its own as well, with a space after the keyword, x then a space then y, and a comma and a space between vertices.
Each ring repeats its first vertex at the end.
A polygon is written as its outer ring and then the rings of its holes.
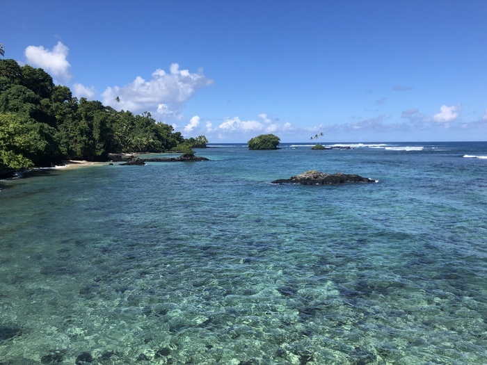
POLYGON ((70 63, 67 62, 67 48, 62 42, 58 42, 50 51, 42 46, 29 46, 25 49, 26 63, 35 67, 41 67, 46 72, 51 74, 54 79, 58 81, 66 81, 71 79, 70 63))

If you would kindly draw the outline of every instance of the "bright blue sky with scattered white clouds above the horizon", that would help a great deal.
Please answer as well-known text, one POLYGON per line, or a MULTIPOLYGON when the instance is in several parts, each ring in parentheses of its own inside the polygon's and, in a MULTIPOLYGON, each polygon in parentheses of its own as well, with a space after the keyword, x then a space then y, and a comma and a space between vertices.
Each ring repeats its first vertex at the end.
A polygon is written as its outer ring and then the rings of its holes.
POLYGON ((486 140, 484 0, 0 0, 5 58, 184 136, 486 140), (120 103, 115 98, 120 97, 120 103))

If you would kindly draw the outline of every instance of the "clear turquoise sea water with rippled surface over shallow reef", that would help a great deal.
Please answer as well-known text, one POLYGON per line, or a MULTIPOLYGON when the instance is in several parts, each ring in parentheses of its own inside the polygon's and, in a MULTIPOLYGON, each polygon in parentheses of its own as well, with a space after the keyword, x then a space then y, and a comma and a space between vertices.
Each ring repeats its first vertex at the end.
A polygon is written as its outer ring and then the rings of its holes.
POLYGON ((0 362, 486 364, 487 143, 281 147, 0 183, 0 362))

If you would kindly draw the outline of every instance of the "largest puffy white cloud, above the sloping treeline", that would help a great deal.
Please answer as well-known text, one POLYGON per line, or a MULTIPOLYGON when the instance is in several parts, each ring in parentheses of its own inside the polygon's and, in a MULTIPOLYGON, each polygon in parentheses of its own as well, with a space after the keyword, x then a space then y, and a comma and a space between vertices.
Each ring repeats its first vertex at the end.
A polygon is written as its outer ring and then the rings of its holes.
POLYGON ((170 116, 177 113, 196 90, 213 83, 202 70, 195 73, 179 70, 177 63, 170 65, 169 71, 157 69, 149 81, 137 76, 125 86, 106 88, 102 93, 103 104, 134 113, 157 110, 157 113, 170 116), (117 97, 120 98, 118 104, 115 103, 117 97))

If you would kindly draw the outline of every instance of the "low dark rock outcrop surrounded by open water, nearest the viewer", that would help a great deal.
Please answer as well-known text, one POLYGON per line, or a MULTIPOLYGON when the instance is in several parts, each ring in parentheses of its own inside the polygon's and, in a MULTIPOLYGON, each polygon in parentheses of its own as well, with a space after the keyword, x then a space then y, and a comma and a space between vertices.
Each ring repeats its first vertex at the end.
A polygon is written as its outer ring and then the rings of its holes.
POLYGON ((301 184, 301 185, 336 185, 347 183, 373 183, 377 182, 360 175, 348 175, 337 172, 335 174, 325 174, 317 170, 303 172, 303 174, 291 177, 291 179, 278 179, 272 184, 301 184))

